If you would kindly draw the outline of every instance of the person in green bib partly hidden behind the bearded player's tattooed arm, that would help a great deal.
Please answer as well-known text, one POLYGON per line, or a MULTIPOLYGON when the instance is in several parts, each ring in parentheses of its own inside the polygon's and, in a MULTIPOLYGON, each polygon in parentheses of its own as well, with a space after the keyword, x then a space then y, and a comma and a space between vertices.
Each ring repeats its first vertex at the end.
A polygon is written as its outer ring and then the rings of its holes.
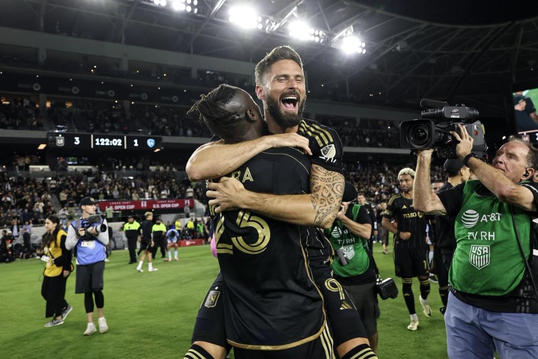
POLYGON ((340 211, 332 228, 325 229, 325 235, 329 238, 332 248, 339 252, 331 265, 334 278, 342 284, 342 288, 348 292, 353 301, 368 335, 370 347, 375 353, 379 339, 377 318, 380 312, 376 272, 367 252, 372 224, 370 214, 364 205, 346 202, 356 198, 357 190, 351 183, 346 182, 340 211), (345 262, 342 262, 342 255, 345 256, 345 262))

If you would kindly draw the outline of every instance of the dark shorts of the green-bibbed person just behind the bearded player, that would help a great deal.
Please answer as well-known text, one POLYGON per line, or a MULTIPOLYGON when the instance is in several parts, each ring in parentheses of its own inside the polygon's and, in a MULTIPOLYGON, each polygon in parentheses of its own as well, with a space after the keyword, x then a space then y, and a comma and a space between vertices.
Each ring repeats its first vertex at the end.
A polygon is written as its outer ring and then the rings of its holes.
POLYGON ((379 305, 377 300, 376 282, 343 285, 348 292, 353 304, 357 308, 360 319, 363 321, 364 329, 368 336, 377 333, 377 318, 379 318, 379 305))

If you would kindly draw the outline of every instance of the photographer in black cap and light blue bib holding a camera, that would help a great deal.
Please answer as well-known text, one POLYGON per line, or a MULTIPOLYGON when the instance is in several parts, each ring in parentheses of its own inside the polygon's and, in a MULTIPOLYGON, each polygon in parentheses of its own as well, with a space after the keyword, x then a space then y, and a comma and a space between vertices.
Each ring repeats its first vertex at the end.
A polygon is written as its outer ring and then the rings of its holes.
POLYGON ((99 332, 108 331, 104 318, 103 272, 107 255, 105 246, 109 242, 107 220, 95 215, 97 201, 84 197, 80 202, 82 217, 71 222, 67 229, 66 248, 76 247, 75 293, 84 293, 84 307, 88 325, 84 335, 96 332, 94 324, 95 306, 99 315, 99 332), (96 222, 94 221, 96 220, 96 222))

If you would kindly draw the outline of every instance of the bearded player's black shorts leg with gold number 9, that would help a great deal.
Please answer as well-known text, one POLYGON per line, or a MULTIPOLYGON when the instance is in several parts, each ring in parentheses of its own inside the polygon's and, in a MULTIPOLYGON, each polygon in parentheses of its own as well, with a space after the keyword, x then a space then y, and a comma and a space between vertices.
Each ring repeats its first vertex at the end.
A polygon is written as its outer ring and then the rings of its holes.
POLYGON ((312 268, 314 282, 323 296, 323 305, 327 320, 332 329, 335 346, 353 339, 366 338, 366 331, 353 301, 342 285, 332 277, 331 268, 323 263, 312 268))

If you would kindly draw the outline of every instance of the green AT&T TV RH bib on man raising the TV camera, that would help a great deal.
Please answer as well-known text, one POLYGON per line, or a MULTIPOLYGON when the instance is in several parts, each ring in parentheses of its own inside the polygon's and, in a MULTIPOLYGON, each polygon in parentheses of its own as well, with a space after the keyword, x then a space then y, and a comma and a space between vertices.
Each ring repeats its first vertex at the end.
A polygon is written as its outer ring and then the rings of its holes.
MULTIPOLYGON (((525 263, 515 238, 509 205, 493 194, 478 195, 480 181, 467 181, 462 207, 456 216, 456 252, 449 282, 458 291, 502 296, 511 292, 523 278, 525 263)), ((530 253, 530 216, 512 206, 521 244, 530 253)))

